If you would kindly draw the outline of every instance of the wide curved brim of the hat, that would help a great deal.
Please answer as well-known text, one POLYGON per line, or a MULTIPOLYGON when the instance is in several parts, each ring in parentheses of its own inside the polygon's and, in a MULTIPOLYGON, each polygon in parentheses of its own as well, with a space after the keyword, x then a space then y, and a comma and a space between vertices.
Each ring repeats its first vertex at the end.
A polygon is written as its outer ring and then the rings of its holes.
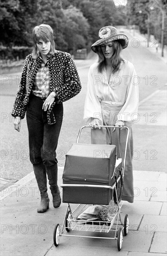
POLYGON ((122 49, 125 49, 128 46, 128 37, 124 34, 118 34, 109 38, 102 38, 97 40, 94 44, 92 44, 91 49, 96 53, 96 46, 116 40, 120 42, 122 49))

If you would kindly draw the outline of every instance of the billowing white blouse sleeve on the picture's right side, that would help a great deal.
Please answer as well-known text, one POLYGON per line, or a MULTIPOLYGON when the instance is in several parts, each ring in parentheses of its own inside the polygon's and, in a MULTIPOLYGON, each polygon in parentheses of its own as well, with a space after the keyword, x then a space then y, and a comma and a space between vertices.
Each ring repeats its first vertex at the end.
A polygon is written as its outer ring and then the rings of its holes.
POLYGON ((138 105, 139 105, 139 89, 138 89, 138 76, 136 75, 135 68, 132 64, 129 85, 127 88, 127 98, 124 106, 119 112, 118 121, 128 121, 133 123, 138 120, 138 105))

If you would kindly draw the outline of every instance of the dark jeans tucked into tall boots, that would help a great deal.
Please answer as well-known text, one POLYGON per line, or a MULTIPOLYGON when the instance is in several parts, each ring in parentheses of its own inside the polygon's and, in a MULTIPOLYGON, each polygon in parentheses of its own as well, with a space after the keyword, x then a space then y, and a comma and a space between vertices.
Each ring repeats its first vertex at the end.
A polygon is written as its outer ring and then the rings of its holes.
POLYGON ((47 111, 42 109, 44 99, 30 95, 26 108, 26 119, 29 133, 30 161, 33 165, 40 162, 45 167, 57 165, 56 148, 63 121, 63 104, 55 104, 53 113, 56 123, 48 125, 47 111))

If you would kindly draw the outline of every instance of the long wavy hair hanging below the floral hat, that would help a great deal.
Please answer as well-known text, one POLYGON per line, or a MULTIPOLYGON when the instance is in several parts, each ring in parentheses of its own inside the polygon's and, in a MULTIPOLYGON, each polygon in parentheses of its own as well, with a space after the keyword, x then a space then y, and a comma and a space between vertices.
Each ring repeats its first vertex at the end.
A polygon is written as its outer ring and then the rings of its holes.
MULTIPOLYGON (((122 61, 124 62, 124 60, 120 56, 120 53, 122 51, 121 44, 117 40, 112 41, 112 44, 113 44, 113 54, 111 56, 111 66, 113 67, 112 73, 115 74, 119 70, 121 62, 122 61)), ((97 70, 98 72, 102 73, 102 70, 105 67, 105 57, 103 55, 101 45, 96 46, 96 53, 98 54, 97 70)))

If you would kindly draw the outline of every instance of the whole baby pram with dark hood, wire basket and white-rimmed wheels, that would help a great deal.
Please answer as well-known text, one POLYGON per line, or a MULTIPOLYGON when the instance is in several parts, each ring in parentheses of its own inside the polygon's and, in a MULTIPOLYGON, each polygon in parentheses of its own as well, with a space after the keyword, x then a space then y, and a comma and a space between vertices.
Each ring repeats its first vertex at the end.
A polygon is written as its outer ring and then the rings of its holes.
MULTIPOLYGON (((121 198, 129 129, 127 127, 101 126, 102 128, 127 129, 125 154, 122 162, 122 158, 117 159, 115 145, 78 143, 82 129, 88 127, 80 128, 77 142, 72 144, 66 154, 61 187, 63 188, 63 202, 67 202, 68 206, 62 227, 60 228, 59 224, 55 225, 54 245, 58 246, 60 236, 77 236, 64 234, 65 230, 67 232, 77 230, 100 233, 109 233, 112 230, 115 231, 115 236, 105 237, 105 239, 116 239, 118 250, 120 250, 123 241, 122 230, 126 236, 129 226, 128 215, 125 215, 124 222, 120 215, 123 204, 121 198), (79 205, 72 211, 70 203, 79 203, 79 205), (94 210, 97 208, 98 214, 96 217, 90 218, 88 213, 92 208, 94 210), (89 216, 89 218, 85 219, 82 216, 89 216)), ((79 237, 104 238, 103 236, 83 235, 79 237)))

